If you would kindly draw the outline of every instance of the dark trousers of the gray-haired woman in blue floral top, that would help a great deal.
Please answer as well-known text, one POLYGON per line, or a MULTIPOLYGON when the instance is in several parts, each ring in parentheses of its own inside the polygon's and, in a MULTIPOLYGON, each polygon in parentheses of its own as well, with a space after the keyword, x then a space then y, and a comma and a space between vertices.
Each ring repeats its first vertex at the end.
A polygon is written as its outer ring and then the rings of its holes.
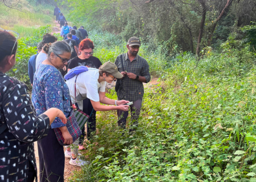
POLYGON ((64 182, 65 155, 53 129, 37 141, 40 182, 64 182))

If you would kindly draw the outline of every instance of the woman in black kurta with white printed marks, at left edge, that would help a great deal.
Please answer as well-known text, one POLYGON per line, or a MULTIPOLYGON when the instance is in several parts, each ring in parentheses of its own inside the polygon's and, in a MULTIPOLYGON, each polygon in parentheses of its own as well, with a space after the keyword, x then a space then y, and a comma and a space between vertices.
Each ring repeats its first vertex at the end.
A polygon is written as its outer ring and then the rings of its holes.
POLYGON ((47 136, 56 117, 66 123, 64 113, 50 108, 36 116, 27 86, 6 76, 15 64, 16 38, 0 31, 0 182, 37 181, 33 142, 47 136))

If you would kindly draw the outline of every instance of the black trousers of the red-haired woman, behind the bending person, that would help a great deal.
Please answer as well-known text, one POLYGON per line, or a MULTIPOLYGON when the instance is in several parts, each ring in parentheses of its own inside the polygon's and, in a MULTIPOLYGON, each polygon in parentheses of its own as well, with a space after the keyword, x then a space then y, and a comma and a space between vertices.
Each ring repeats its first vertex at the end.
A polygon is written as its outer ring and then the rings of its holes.
MULTIPOLYGON (((93 106, 91 105, 91 100, 90 99, 84 99, 83 100, 83 112, 88 114, 90 116, 91 111, 93 109, 93 106)), ((87 124, 87 140, 91 140, 92 132, 96 130, 96 111, 93 110, 91 117, 88 120, 87 124)), ((80 136, 79 139, 79 144, 83 145, 85 139, 85 127, 82 129, 82 135, 80 136)))

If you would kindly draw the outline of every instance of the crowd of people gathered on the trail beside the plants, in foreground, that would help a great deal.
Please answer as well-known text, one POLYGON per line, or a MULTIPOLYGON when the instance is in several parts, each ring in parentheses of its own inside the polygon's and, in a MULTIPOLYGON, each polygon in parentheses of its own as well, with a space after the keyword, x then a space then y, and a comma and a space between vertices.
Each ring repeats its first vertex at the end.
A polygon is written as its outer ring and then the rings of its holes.
POLYGON ((128 40, 128 52, 117 56, 115 63, 102 65, 93 56, 94 44, 87 32, 72 30, 80 36, 78 44, 68 33, 66 40, 59 41, 45 34, 37 45, 37 54, 28 61, 32 99, 24 83, 5 75, 15 65, 17 37, 0 30, 0 182, 37 181, 36 141, 40 182, 64 182, 65 157, 71 165, 89 164, 78 155, 86 147, 80 116, 88 118, 88 142, 94 142, 96 111, 117 110, 118 126, 125 128, 130 108, 130 131, 138 126, 143 82, 150 81, 149 65, 138 55, 139 38, 128 40), (105 95, 106 83, 113 81, 117 81, 117 100, 105 95))

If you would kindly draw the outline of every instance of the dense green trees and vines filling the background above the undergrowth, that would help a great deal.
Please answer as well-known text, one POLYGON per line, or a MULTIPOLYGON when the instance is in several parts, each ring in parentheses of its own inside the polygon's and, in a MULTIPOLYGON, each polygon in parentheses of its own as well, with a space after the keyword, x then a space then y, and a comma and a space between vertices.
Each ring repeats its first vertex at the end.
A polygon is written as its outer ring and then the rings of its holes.
POLYGON ((69 6, 69 18, 76 24, 107 30, 126 41, 138 36, 150 51, 162 46, 166 56, 180 50, 198 50, 199 55, 205 46, 217 48, 230 32, 256 21, 255 0, 60 0, 59 4, 69 6))

